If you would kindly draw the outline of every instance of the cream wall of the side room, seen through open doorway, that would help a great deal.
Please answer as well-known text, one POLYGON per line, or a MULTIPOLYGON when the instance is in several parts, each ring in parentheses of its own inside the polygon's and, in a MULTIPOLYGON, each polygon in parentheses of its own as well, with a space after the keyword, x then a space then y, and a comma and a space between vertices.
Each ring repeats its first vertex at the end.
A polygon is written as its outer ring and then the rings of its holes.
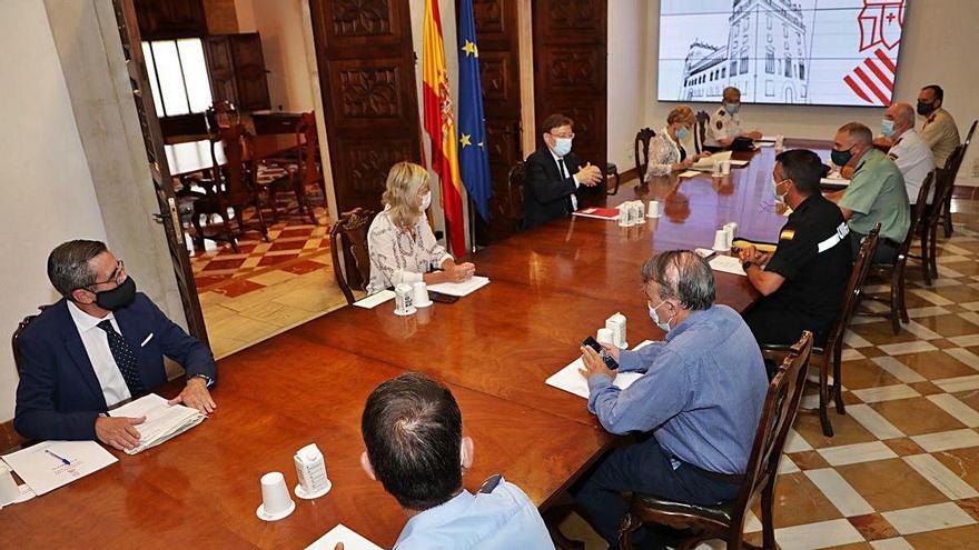
POLYGON ((237 0, 238 32, 258 32, 276 111, 314 109, 304 41, 303 0, 237 0))

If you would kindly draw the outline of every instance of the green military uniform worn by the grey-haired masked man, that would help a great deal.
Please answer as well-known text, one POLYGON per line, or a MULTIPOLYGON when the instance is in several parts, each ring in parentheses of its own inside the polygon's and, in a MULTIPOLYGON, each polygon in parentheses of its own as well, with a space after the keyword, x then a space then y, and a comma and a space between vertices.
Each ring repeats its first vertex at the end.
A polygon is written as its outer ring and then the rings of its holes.
POLYGON ((853 211, 849 221, 850 231, 856 233, 853 256, 860 249, 862 237, 874 223, 880 223, 881 241, 874 261, 892 262, 911 226, 904 177, 894 161, 877 149, 863 153, 840 206, 853 211))

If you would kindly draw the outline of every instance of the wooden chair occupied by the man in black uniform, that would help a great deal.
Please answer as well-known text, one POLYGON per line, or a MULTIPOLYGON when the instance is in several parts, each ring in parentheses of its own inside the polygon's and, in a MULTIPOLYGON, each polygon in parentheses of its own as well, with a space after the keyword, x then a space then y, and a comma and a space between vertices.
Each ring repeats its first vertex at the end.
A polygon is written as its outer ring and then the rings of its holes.
MULTIPOLYGON (((822 426, 823 434, 828 438, 833 437, 833 424, 830 422, 829 417, 830 400, 832 399, 835 403, 838 414, 847 413, 843 397, 840 393, 840 388, 842 387, 843 334, 847 332, 847 326, 850 324, 850 319, 853 317, 857 304, 862 297, 861 288, 870 270, 873 253, 877 251, 879 236, 880 223, 877 223, 870 230, 870 234, 863 240, 863 244, 860 246, 860 253, 857 254, 857 261, 853 262, 850 281, 847 283, 847 291, 843 294, 840 316, 830 329, 825 346, 812 349, 812 364, 819 368, 819 422, 822 426), (832 386, 829 383, 830 367, 833 370, 832 386)), ((791 349, 784 344, 762 344, 761 351, 765 359, 781 361, 791 349)))

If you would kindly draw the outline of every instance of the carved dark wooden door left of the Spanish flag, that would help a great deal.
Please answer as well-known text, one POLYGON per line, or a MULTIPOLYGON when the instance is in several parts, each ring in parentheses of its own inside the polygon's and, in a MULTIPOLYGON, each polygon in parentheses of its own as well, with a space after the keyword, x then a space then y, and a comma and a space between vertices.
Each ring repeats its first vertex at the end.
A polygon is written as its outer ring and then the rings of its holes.
POLYGON ((408 0, 312 0, 340 212, 380 208, 390 167, 422 161, 408 0))

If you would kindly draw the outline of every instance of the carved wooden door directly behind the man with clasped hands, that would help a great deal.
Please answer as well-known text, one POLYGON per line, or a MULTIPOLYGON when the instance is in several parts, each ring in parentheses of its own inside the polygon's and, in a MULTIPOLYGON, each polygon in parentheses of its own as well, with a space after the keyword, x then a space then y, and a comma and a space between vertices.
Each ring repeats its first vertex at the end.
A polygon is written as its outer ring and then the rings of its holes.
MULTIPOLYGON (((607 0, 534 0, 534 117, 574 120, 574 152, 604 167, 606 143, 607 0)), ((592 191, 604 197, 605 184, 592 191)))

